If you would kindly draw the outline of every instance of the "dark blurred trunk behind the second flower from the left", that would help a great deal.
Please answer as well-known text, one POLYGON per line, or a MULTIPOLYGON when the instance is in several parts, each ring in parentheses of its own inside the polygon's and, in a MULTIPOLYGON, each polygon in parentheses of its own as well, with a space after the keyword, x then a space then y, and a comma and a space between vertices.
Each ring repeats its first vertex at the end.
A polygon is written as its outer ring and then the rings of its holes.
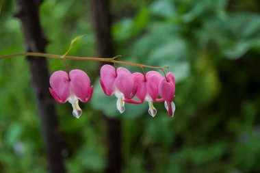
MULTIPOLYGON (((99 57, 113 57, 113 40, 111 35, 111 17, 109 14, 109 0, 92 0, 92 17, 96 34, 97 53, 99 57)), ((121 158, 121 126, 120 120, 108 118, 106 122, 107 141, 107 173, 120 173, 121 158)))

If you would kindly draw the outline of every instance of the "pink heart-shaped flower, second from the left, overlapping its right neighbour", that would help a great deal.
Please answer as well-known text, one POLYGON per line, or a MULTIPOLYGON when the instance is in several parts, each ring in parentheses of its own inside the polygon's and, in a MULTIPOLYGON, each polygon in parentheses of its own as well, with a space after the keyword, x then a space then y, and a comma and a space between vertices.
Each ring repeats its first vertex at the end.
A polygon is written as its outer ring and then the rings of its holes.
POLYGON ((134 88, 133 77, 127 68, 117 70, 108 64, 101 67, 101 87, 107 96, 115 94, 118 98, 116 107, 122 114, 125 111, 125 98, 133 98, 137 88, 134 88))

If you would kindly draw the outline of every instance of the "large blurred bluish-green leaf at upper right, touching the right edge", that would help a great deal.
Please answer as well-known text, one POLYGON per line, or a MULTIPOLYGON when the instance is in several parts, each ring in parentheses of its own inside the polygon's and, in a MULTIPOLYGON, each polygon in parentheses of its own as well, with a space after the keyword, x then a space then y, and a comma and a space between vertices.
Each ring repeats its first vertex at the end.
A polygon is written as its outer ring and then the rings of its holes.
POLYGON ((252 47, 260 47, 260 15, 234 12, 228 18, 211 18, 205 25, 225 57, 237 59, 252 47))

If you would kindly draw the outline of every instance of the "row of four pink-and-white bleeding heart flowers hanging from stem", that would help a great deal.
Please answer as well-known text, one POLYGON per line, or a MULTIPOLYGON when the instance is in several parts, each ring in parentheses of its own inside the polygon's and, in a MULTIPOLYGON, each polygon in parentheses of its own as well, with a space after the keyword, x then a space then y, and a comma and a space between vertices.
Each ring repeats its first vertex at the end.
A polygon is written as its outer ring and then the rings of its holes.
MULTIPOLYGON (((116 107, 122 114, 125 111, 125 103, 140 104, 148 102, 148 114, 155 116, 157 110, 153 102, 164 102, 169 116, 173 116, 175 105, 173 103, 175 93, 175 79, 172 72, 163 77, 159 72, 149 71, 145 75, 140 72, 133 74, 127 68, 114 68, 104 65, 101 67, 101 87, 107 96, 114 94, 118 99, 116 107), (133 99, 133 98, 136 99, 133 99)), ((73 116, 79 118, 82 111, 81 102, 88 102, 92 96, 93 86, 90 86, 90 78, 82 70, 62 70, 54 72, 50 78, 51 95, 58 103, 68 101, 73 105, 73 116)))

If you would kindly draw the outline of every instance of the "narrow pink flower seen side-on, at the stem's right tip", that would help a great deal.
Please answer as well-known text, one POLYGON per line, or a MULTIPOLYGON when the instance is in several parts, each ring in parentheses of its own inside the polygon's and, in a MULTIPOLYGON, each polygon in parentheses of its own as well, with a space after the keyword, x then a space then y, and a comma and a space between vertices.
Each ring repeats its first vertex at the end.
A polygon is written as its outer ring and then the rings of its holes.
POLYGON ((159 83, 159 94, 165 100, 164 106, 168 111, 168 115, 172 117, 175 111, 175 105, 172 101, 175 94, 175 78, 172 72, 168 72, 166 78, 159 83))

